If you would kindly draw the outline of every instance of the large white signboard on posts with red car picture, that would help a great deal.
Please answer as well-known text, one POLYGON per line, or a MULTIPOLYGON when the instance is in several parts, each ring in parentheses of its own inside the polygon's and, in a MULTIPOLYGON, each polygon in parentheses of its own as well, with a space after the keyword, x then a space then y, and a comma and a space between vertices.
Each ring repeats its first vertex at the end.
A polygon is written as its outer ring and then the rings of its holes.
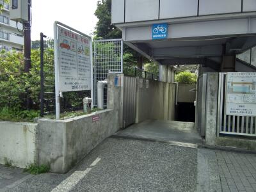
POLYGON ((54 68, 58 120, 62 92, 90 90, 93 98, 92 38, 61 22, 54 22, 54 68))

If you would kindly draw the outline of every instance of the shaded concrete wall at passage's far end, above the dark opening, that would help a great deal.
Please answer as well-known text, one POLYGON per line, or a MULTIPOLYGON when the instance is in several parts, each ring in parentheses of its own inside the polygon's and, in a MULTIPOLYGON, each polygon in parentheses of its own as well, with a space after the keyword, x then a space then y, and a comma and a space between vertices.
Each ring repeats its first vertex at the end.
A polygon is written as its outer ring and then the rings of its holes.
POLYGON ((196 92, 189 92, 196 88, 196 84, 179 84, 178 102, 194 102, 196 100, 196 92))

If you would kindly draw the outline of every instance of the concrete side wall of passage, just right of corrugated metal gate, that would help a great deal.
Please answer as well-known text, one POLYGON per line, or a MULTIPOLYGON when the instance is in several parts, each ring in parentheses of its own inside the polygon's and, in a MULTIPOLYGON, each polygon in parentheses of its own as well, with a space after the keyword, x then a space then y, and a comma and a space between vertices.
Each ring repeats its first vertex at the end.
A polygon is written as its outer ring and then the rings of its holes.
POLYGON ((149 80, 148 88, 137 86, 136 123, 147 119, 174 120, 174 111, 175 84, 149 80))

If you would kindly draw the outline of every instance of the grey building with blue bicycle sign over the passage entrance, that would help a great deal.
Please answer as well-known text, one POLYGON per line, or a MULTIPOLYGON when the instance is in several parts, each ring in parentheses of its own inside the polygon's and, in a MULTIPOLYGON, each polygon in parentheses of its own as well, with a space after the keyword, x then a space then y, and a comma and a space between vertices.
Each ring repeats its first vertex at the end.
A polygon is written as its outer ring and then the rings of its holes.
POLYGON ((225 85, 228 72, 255 76, 256 0, 112 0, 112 23, 159 63, 160 81, 174 83, 175 65, 200 65, 195 127, 207 144, 255 150, 256 116, 228 115, 225 85))

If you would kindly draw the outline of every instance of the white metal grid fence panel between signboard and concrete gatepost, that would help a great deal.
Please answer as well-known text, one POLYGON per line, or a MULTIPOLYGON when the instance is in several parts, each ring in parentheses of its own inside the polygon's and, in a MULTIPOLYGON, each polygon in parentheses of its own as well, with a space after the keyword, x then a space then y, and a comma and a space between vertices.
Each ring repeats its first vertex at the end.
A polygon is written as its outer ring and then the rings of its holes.
MULTIPOLYGON (((122 39, 94 41, 94 100, 97 104, 97 82, 108 78, 108 73, 123 73, 122 39)), ((104 104, 107 102, 107 89, 104 90, 104 104)))

